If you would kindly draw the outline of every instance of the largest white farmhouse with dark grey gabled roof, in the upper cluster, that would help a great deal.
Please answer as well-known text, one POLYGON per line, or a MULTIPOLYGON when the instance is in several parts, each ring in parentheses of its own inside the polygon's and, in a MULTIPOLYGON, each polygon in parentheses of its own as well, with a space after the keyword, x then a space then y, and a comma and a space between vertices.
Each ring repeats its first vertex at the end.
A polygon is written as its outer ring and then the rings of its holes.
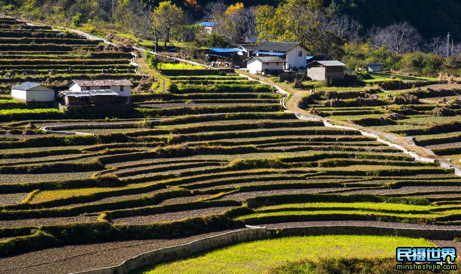
POLYGON ((307 49, 300 43, 265 41, 253 52, 257 56, 285 56, 285 69, 301 68, 306 65, 307 49))

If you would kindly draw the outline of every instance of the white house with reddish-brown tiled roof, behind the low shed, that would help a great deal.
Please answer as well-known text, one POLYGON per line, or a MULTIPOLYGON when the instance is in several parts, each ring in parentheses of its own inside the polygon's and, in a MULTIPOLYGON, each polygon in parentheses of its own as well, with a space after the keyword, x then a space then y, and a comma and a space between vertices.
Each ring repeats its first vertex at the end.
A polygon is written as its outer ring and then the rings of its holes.
POLYGON ((69 83, 71 91, 112 90, 119 96, 131 96, 133 84, 127 79, 114 80, 72 80, 69 83))

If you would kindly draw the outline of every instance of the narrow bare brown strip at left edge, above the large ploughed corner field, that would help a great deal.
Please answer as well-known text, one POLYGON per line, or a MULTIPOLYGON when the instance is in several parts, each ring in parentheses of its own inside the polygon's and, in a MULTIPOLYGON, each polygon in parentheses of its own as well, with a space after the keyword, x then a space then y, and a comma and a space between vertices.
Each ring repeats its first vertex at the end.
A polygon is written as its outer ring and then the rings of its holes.
POLYGON ((67 224, 67 223, 77 223, 77 222, 78 223, 97 222, 97 217, 80 215, 80 216, 74 216, 74 217, 0 220, 0 227, 40 226, 40 225, 67 224))

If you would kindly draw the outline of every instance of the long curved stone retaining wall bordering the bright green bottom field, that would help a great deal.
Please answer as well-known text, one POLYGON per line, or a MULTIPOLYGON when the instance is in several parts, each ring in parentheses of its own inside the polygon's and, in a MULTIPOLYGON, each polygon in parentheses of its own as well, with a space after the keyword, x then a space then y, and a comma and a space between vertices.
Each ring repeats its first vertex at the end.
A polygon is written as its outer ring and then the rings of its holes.
POLYGON ((431 240, 453 240, 461 237, 461 231, 455 229, 422 229, 394 228, 374 226, 332 225, 271 228, 247 226, 248 229, 231 231, 217 236, 203 238, 188 244, 165 247, 145 252, 139 256, 124 261, 118 266, 100 268, 78 273, 85 274, 128 274, 145 266, 160 262, 187 258, 199 252, 212 250, 237 243, 273 239, 289 236, 320 236, 320 235, 374 235, 396 236, 410 238, 425 238, 431 240))

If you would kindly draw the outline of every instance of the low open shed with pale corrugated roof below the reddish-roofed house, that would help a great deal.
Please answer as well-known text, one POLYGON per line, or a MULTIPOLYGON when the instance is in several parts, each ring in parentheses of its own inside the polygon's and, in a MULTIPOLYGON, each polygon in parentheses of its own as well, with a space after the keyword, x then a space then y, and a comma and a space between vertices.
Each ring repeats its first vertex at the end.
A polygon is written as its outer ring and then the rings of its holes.
POLYGON ((112 90, 60 91, 66 106, 108 106, 116 104, 118 93, 112 90))

